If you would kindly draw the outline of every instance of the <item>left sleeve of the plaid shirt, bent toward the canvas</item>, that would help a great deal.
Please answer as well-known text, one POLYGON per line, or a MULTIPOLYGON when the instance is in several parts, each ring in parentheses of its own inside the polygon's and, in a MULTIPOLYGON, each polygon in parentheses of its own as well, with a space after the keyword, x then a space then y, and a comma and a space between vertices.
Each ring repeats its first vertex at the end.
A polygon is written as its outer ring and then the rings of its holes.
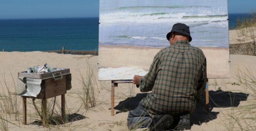
POLYGON ((153 63, 150 66, 148 73, 140 79, 141 92, 150 92, 154 86, 157 77, 157 66, 159 63, 158 54, 155 55, 153 63))

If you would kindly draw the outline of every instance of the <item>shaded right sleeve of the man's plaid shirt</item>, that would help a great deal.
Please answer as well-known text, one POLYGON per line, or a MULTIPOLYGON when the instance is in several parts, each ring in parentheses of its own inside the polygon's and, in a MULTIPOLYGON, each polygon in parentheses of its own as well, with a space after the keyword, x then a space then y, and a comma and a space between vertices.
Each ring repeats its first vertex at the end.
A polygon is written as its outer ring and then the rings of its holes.
POLYGON ((206 89, 206 58, 204 57, 204 60, 202 61, 201 64, 201 77, 198 81, 198 87, 197 87, 197 94, 196 94, 196 99, 197 101, 200 101, 201 96, 204 94, 205 89, 206 89))

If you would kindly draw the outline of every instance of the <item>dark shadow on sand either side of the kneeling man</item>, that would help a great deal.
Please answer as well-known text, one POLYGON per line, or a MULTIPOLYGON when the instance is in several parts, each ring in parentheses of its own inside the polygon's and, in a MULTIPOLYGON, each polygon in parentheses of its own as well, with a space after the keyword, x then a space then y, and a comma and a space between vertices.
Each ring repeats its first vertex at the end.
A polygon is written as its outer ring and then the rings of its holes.
MULTIPOLYGON (((138 106, 139 102, 146 96, 147 93, 139 93, 135 97, 129 97, 124 101, 120 101, 119 104, 115 107, 116 110, 119 110, 116 112, 116 114, 134 110, 138 106)), ((200 103, 197 103, 194 114, 190 116, 190 123, 191 125, 200 125, 202 123, 207 123, 211 120, 214 120, 217 118, 217 115, 219 114, 219 112, 212 111, 214 107, 237 107, 240 104, 240 101, 246 101, 248 96, 249 94, 245 93, 224 92, 222 90, 210 90, 210 113, 204 111, 204 105, 200 104, 206 103, 204 95, 202 96, 202 101, 200 103)))

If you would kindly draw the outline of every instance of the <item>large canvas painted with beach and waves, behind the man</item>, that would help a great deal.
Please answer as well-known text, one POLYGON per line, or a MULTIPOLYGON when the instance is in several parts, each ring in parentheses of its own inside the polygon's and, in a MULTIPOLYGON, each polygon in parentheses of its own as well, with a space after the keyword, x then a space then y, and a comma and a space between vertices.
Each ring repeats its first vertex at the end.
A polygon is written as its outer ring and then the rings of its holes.
POLYGON ((208 78, 230 77, 227 0, 100 0, 99 12, 99 80, 147 74, 175 23, 190 27, 208 78))

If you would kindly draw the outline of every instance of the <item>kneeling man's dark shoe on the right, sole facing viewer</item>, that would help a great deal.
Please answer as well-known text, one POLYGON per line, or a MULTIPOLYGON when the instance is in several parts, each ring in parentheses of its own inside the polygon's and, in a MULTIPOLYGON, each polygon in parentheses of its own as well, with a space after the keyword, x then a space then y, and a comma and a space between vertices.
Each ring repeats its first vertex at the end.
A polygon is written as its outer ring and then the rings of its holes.
POLYGON ((190 130, 190 114, 180 116, 180 122, 177 125, 177 131, 190 130))

